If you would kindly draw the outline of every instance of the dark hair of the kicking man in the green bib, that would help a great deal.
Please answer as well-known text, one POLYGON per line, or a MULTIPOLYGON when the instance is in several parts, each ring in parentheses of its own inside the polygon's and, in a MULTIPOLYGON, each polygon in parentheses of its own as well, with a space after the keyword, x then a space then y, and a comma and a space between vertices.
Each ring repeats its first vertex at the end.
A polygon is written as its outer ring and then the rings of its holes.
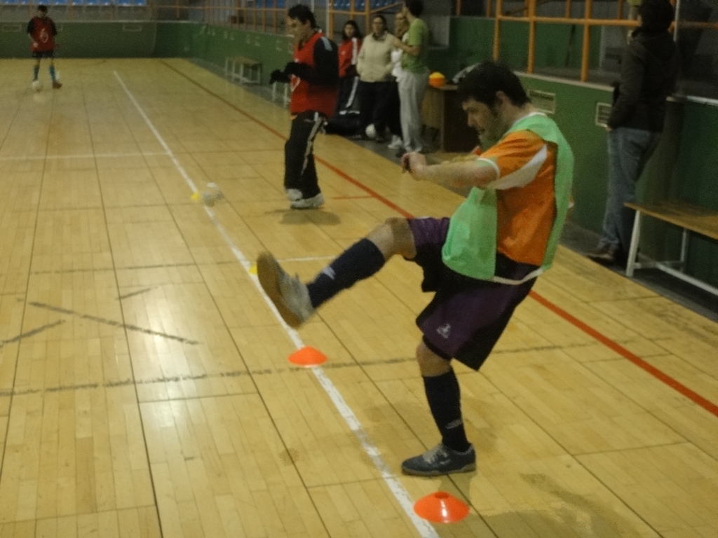
POLYGON ((457 95, 464 103, 469 99, 484 103, 488 107, 496 104, 496 93, 503 92, 513 105, 522 106, 531 102, 521 80, 508 65, 488 60, 474 67, 460 82, 457 95))

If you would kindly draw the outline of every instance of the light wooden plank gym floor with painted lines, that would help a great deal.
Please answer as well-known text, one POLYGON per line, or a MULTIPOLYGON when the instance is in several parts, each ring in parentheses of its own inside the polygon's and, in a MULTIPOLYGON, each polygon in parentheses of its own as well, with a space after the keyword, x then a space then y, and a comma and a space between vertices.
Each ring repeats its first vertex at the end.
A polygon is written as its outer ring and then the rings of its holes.
POLYGON ((289 211, 286 109, 184 60, 57 68, 34 93, 31 60, 0 61, 0 537, 718 536, 716 323, 561 248, 481 372, 457 366, 477 471, 402 476, 439 440, 417 268, 294 332, 253 259, 309 278, 459 197, 320 136, 327 204, 289 211), (328 361, 292 367, 302 346, 328 361), (416 516, 439 490, 470 515, 416 516))

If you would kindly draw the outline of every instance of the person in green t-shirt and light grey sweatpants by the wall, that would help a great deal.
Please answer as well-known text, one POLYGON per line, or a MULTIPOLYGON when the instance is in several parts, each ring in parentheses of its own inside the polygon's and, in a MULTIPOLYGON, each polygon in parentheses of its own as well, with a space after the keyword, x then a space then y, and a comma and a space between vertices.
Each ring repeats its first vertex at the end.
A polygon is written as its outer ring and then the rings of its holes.
POLYGON ((401 132, 404 138, 404 152, 420 152, 424 148, 421 141, 421 101, 424 100, 426 86, 429 85, 429 67, 426 56, 429 52, 429 27, 419 19, 424 12, 422 0, 405 0, 402 8, 409 22, 406 42, 398 37, 394 47, 401 49, 401 68, 404 75, 397 81, 401 108, 401 132))

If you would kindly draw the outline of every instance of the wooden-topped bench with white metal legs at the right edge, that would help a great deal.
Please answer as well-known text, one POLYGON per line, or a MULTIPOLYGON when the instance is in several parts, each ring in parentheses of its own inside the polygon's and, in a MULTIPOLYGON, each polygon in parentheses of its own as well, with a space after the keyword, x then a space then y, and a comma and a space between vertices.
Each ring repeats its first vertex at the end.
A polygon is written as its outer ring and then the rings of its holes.
POLYGON ((688 255, 689 235, 692 233, 704 235, 711 239, 718 240, 718 211, 699 207, 686 202, 664 201, 656 204, 638 204, 628 202, 625 207, 635 209, 635 220, 633 221, 633 235, 628 249, 628 263, 626 264, 626 276, 633 277, 633 270, 640 268, 657 268, 669 273, 676 278, 685 280, 699 288, 718 295, 718 288, 702 282, 691 275, 684 273, 686 257, 688 255), (679 260, 637 262, 638 242, 640 241, 640 221, 643 215, 654 219, 668 222, 671 225, 683 229, 681 236, 681 256, 679 260), (677 267, 677 269, 676 269, 677 267))

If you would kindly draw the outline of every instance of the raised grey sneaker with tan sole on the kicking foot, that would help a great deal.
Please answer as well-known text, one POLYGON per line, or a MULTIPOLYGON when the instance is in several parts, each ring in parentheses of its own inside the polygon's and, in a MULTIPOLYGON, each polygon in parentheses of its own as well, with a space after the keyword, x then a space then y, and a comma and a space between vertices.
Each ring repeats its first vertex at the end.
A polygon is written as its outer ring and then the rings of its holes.
POLYGON ((314 307, 307 285, 297 275, 289 276, 270 253, 258 256, 257 276, 287 325, 297 329, 312 316, 314 307))

